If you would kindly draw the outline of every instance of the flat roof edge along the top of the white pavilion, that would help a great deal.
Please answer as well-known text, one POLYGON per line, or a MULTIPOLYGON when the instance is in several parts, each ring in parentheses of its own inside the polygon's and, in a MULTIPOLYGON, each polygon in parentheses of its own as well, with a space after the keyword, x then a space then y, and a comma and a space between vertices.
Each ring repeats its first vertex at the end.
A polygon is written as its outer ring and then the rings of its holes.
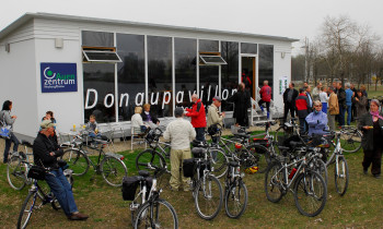
POLYGON ((200 33, 212 33, 220 35, 241 35, 248 36, 255 38, 267 38, 274 40, 282 40, 282 41, 299 41, 299 39, 289 38, 289 37, 279 37, 279 36, 268 36, 260 34, 249 34, 249 33, 241 33, 241 32, 228 32, 228 31, 218 31, 218 29, 208 29, 208 28, 197 28, 197 27, 182 27, 174 25, 161 25, 161 24, 151 24, 151 23, 140 23, 140 22, 130 22, 130 21, 120 21, 120 20, 108 20, 108 19, 97 19, 97 17, 86 17, 86 16, 74 16, 74 15, 65 15, 65 14, 53 14, 53 13, 25 13, 16 21, 8 25, 0 32, 0 39, 18 29, 19 26, 23 25, 27 21, 32 19, 47 19, 47 20, 62 20, 62 21, 73 21, 73 22, 92 22, 92 23, 103 23, 103 24, 114 24, 114 25, 135 25, 148 28, 167 28, 167 29, 178 29, 178 31, 188 31, 188 32, 200 32, 200 33))

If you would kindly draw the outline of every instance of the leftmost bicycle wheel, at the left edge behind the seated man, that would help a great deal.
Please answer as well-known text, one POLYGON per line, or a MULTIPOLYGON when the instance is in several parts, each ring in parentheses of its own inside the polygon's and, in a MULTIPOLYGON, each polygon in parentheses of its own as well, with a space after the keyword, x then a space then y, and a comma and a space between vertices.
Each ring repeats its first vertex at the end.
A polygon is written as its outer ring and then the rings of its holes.
POLYGON ((8 160, 7 179, 14 190, 22 190, 25 186, 26 168, 20 157, 12 156, 8 160))

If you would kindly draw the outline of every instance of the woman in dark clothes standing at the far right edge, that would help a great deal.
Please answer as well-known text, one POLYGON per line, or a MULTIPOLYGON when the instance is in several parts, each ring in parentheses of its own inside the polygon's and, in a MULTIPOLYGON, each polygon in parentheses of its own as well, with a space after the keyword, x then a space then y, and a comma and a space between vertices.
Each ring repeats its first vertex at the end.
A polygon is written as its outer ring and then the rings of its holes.
POLYGON ((364 113, 358 123, 358 128, 363 132, 363 173, 368 174, 371 165, 371 173, 376 179, 381 178, 383 150, 383 113, 379 112, 379 100, 372 99, 370 112, 364 113))

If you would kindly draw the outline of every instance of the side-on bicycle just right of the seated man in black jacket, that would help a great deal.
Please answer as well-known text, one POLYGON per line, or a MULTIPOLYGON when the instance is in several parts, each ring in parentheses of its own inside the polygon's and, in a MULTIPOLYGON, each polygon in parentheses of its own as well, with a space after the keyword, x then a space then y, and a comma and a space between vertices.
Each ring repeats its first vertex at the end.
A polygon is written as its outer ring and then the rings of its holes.
MULTIPOLYGON (((85 174, 90 166, 92 166, 95 173, 102 174, 107 184, 112 186, 123 185, 123 178, 128 173, 124 162, 125 157, 115 153, 105 153, 103 149, 107 145, 107 141, 97 138, 94 141, 101 145, 96 162, 93 162, 88 156, 89 153, 82 148, 83 138, 80 135, 76 135, 70 142, 70 147, 63 152, 61 159, 65 158, 68 161, 68 165, 73 170, 73 176, 85 174)), ((94 177, 91 179, 94 179, 94 177)))

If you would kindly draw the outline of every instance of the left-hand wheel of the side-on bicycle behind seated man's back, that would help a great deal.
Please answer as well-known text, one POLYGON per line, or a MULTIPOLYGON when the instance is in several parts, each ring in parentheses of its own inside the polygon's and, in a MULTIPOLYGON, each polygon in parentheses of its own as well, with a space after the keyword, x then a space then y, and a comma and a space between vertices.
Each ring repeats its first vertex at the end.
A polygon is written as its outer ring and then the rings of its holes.
POLYGON ((61 157, 68 162, 68 166, 73 170, 73 176, 83 176, 89 170, 89 158, 85 153, 79 149, 68 148, 61 157))

